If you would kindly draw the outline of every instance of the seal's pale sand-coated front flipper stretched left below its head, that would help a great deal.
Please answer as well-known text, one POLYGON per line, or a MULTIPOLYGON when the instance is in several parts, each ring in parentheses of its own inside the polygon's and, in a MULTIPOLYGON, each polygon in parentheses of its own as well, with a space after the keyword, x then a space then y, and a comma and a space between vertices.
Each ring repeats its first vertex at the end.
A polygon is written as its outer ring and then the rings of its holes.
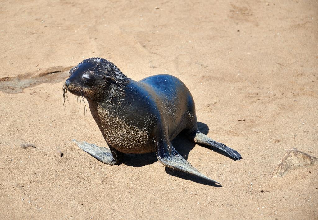
POLYGON ((85 141, 80 142, 77 140, 72 140, 79 146, 80 149, 84 150, 86 153, 89 153, 94 158, 98 159, 100 162, 107 165, 116 165, 122 158, 121 152, 115 150, 111 146, 108 148, 99 147, 95 144, 90 144, 85 141))

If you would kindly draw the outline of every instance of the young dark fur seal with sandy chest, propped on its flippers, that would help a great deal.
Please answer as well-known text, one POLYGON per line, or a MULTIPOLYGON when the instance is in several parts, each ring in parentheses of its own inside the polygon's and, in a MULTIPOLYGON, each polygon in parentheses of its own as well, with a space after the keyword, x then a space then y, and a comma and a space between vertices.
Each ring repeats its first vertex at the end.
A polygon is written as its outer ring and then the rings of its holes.
POLYGON ((112 62, 93 57, 70 70, 63 86, 63 103, 67 91, 87 99, 109 150, 73 141, 105 164, 118 164, 122 153, 156 152, 163 165, 218 183, 190 165, 172 146, 171 141, 180 132, 192 142, 218 148, 237 160, 241 158, 236 150, 198 130, 192 95, 174 76, 155 75, 137 82, 125 76, 112 62))

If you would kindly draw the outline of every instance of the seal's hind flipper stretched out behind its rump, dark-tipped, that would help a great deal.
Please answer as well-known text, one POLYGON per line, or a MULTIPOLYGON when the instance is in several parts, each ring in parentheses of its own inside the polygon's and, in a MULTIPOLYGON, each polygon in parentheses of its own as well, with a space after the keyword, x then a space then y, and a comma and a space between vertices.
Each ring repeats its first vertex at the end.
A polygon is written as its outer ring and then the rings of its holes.
POLYGON ((229 148, 228 146, 226 146, 223 143, 213 141, 211 138, 204 135, 203 133, 201 133, 198 130, 195 133, 194 142, 197 144, 204 144, 204 145, 208 145, 210 147, 218 148, 219 150, 224 151, 225 153, 230 155, 232 158, 235 158, 237 160, 239 160, 241 158, 241 155, 236 150, 229 148))

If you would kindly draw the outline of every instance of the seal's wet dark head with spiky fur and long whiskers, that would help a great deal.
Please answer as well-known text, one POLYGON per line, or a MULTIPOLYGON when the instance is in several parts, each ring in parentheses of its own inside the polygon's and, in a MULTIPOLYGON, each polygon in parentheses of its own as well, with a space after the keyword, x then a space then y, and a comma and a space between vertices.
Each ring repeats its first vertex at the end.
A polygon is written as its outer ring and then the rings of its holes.
POLYGON ((88 58, 70 70, 70 77, 63 85, 63 101, 69 91, 86 99, 111 102, 113 97, 124 95, 128 82, 129 78, 112 62, 99 57, 88 58))

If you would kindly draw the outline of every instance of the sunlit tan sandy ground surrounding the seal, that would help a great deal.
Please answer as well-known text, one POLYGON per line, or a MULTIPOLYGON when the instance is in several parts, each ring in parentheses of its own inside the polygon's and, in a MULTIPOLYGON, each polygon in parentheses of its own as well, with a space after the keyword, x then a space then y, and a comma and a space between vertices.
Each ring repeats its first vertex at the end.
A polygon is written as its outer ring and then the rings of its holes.
POLYGON ((317 21, 317 1, 1 1, 1 218, 317 219, 318 165, 271 178, 291 147, 318 157, 317 21), (223 187, 71 142, 106 146, 74 96, 62 105, 63 71, 92 56, 179 77, 200 128, 242 154, 174 142, 223 187))

